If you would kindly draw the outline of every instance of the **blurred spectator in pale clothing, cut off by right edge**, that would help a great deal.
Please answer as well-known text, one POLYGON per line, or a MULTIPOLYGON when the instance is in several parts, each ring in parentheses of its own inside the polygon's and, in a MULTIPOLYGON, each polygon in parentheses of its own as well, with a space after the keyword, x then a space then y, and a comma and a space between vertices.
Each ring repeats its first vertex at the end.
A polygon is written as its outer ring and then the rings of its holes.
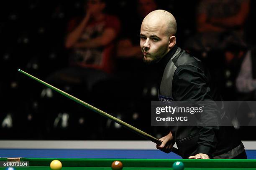
MULTIPOLYGON (((244 93, 243 100, 256 100, 256 47, 248 50, 241 65, 236 87, 244 93)), ((242 98, 241 98, 242 100, 242 98)))

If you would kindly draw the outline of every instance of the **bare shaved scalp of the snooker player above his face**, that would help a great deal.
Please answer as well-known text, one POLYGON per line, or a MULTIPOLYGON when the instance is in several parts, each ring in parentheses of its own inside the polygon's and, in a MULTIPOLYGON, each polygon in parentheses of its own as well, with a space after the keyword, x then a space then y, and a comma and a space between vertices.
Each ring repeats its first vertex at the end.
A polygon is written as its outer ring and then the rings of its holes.
POLYGON ((154 25, 161 28, 168 36, 175 35, 177 32, 177 24, 174 16, 166 10, 154 10, 149 13, 142 24, 154 25))

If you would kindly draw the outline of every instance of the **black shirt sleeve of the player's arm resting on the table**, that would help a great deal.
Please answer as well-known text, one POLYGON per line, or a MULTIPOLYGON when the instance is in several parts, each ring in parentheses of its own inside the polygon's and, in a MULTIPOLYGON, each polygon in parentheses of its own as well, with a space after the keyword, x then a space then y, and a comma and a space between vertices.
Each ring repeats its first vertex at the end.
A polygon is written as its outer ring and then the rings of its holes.
POLYGON ((176 101, 209 101, 211 104, 204 107, 204 112, 200 115, 198 121, 199 139, 197 141, 197 153, 204 153, 209 156, 217 147, 217 138, 215 131, 219 129, 218 120, 220 120, 218 106, 212 99, 207 82, 207 77, 202 70, 191 65, 179 66, 172 82, 172 97, 176 101), (213 103, 213 104, 212 104, 213 103), (216 122, 216 126, 204 126, 207 122, 216 122), (203 122, 203 126, 200 126, 203 122))

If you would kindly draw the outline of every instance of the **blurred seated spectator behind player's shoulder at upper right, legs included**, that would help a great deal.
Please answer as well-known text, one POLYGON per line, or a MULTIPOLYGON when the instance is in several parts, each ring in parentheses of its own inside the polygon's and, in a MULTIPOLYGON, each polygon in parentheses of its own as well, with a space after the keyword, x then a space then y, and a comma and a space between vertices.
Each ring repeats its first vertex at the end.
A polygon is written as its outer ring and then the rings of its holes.
POLYGON ((237 100, 236 77, 246 51, 244 24, 250 0, 200 0, 197 33, 184 48, 206 62, 224 100, 237 100), (201 56, 200 56, 201 55, 201 56))

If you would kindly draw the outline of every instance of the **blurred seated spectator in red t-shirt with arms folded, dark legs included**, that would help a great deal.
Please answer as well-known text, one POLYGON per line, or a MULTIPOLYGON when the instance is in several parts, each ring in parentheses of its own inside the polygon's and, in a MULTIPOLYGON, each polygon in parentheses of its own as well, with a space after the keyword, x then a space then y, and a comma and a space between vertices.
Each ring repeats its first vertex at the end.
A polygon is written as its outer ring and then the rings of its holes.
POLYGON ((104 0, 87 0, 85 15, 69 22, 65 46, 72 50, 70 67, 48 77, 53 83, 93 84, 113 71, 115 40, 120 32, 117 17, 105 14, 104 0))

